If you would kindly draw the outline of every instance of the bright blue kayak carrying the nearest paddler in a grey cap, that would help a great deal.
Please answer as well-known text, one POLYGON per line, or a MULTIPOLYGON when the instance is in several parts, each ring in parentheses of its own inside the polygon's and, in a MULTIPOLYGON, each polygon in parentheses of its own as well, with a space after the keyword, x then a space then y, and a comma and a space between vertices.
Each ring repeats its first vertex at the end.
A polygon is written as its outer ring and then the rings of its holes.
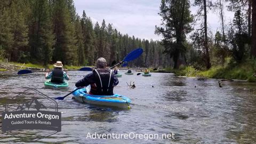
POLYGON ((91 95, 86 93, 86 89, 78 89, 73 92, 73 99, 79 102, 90 103, 93 105, 119 107, 119 108, 130 108, 129 103, 131 100, 120 94, 114 95, 91 95))

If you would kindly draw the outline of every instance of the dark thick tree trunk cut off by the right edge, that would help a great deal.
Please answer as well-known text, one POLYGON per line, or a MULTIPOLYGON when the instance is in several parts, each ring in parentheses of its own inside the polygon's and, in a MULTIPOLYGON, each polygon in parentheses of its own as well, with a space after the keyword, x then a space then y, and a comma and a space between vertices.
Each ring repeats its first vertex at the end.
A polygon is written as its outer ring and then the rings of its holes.
POLYGON ((252 47, 251 54, 256 58, 256 1, 252 1, 252 47))

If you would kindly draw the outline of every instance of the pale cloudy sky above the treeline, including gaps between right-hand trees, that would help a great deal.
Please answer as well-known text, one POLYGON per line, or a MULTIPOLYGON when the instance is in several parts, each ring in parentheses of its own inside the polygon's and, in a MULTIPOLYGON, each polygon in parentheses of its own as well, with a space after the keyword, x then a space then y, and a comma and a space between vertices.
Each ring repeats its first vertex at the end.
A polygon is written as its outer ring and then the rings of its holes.
MULTIPOLYGON (((155 25, 161 25, 161 17, 157 14, 160 0, 74 0, 74 3, 76 12, 82 15, 85 10, 93 23, 98 21, 101 25, 105 19, 106 23, 112 23, 122 34, 134 35, 141 39, 162 38, 154 34, 155 25)), ((195 12, 196 7, 191 7, 191 13, 195 12)), ((226 23, 233 19, 233 15, 225 10, 226 23)), ((213 33, 220 29, 218 12, 209 11, 207 22, 213 33)))

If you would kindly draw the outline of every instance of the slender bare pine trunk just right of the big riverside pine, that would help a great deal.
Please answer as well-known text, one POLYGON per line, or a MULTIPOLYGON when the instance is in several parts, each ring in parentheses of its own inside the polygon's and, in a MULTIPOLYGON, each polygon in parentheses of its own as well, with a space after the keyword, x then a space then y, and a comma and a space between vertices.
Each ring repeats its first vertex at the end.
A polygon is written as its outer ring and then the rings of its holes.
POLYGON ((204 48, 205 48, 205 60, 206 68, 211 68, 210 55, 209 55, 209 45, 207 36, 207 11, 206 11, 206 0, 204 0, 204 48))

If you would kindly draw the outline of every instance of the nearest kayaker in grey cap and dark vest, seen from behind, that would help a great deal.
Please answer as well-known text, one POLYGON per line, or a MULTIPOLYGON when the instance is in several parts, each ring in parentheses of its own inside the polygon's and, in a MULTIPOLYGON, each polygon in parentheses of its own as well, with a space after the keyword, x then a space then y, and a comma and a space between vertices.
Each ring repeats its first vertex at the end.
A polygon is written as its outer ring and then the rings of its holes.
POLYGON ((76 82, 76 87, 91 85, 90 94, 95 95, 113 95, 114 86, 119 81, 114 70, 107 69, 107 61, 104 58, 97 60, 97 69, 87 74, 83 79, 76 82))

